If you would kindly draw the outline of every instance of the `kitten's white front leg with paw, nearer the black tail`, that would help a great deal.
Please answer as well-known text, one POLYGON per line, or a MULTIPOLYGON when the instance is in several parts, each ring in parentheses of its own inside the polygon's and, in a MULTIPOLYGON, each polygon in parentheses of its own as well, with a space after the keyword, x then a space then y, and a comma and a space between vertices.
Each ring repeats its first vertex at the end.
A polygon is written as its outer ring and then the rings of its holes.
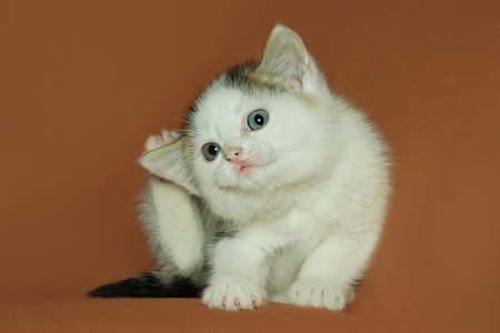
POLYGON ((234 238, 219 241, 212 252, 213 274, 203 292, 203 304, 226 311, 266 305, 267 258, 288 242, 262 225, 250 226, 234 238))

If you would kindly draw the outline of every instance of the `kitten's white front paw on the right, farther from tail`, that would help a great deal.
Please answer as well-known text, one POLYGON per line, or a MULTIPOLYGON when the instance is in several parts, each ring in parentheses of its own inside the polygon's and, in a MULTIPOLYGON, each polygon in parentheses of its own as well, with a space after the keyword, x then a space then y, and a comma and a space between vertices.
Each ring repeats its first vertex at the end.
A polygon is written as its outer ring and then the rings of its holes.
POLYGON ((298 281, 288 292, 290 304, 304 307, 321 307, 342 311, 354 300, 354 289, 336 286, 323 280, 298 281))

